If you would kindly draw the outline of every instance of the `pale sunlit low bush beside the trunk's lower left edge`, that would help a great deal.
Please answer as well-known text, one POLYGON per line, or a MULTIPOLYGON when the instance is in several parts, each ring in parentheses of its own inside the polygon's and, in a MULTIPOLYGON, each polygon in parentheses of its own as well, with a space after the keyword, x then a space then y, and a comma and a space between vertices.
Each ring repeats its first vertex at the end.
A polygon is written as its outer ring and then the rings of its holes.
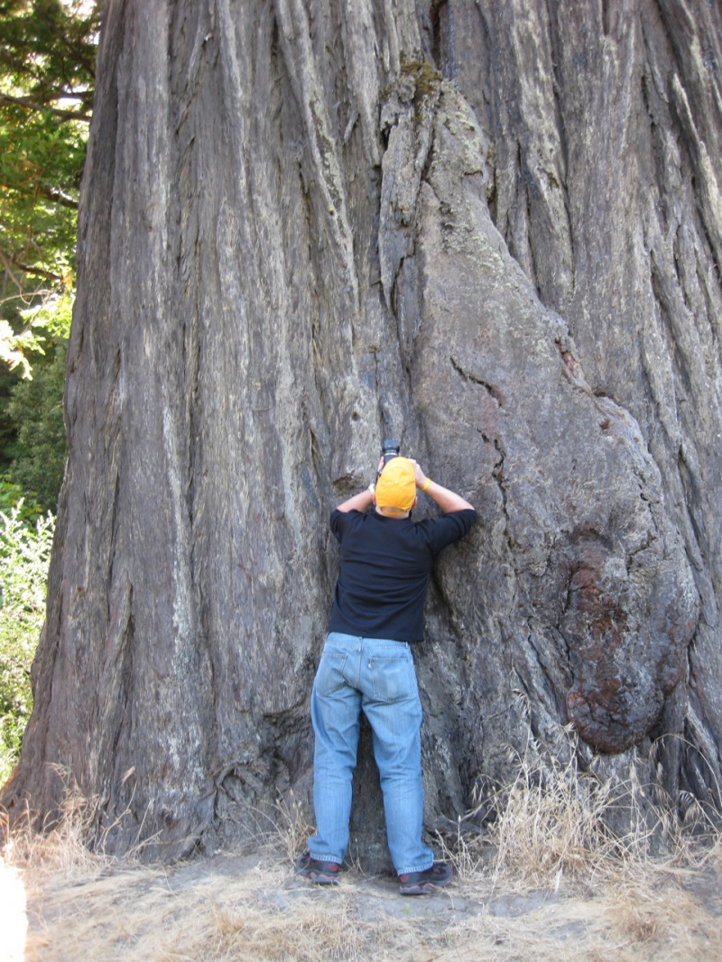
MULTIPOLYGON (((0 485, 0 499, 13 489, 0 485)), ((28 510, 20 498, 0 512, 0 784, 19 757, 33 694, 30 666, 45 617, 45 584, 55 519, 28 510)))

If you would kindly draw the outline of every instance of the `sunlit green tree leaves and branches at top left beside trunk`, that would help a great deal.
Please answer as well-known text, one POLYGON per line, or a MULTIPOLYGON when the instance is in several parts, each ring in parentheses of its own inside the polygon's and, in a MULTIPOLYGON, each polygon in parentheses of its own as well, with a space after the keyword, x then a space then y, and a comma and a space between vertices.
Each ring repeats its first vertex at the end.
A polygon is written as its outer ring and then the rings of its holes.
POLYGON ((0 0, 0 360, 25 377, 35 309, 74 282, 100 7, 0 0))

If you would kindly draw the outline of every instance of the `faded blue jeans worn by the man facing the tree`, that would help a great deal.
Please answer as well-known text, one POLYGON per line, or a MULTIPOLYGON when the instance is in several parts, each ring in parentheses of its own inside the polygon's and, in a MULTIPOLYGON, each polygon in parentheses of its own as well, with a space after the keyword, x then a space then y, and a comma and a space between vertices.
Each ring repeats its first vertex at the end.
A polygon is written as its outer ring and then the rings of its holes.
POLYGON ((433 864, 433 852, 421 840, 422 707, 405 642, 339 632, 326 638, 311 693, 317 827, 308 850, 324 862, 344 861, 362 711, 372 728, 394 868, 399 874, 424 872, 433 864))

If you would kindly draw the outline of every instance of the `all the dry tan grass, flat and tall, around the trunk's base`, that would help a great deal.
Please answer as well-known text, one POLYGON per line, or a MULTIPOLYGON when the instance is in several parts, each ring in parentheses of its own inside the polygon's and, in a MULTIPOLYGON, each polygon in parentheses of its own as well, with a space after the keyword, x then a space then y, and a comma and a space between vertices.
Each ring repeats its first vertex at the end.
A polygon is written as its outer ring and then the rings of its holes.
MULTIPOLYGON (((639 789, 629 786, 632 812, 639 789)), ((486 833, 443 843, 454 884, 401 899, 393 880, 357 868, 333 889, 298 879, 309 825, 293 797, 253 850, 164 869, 90 852, 92 806, 70 793, 53 830, 13 833, 5 849, 3 947, 13 950, 22 896, 27 933, 17 929, 13 962, 722 959, 719 833, 701 843, 699 825, 662 808, 657 823, 631 818, 628 835, 612 837, 616 798, 571 761, 521 761, 486 833)))

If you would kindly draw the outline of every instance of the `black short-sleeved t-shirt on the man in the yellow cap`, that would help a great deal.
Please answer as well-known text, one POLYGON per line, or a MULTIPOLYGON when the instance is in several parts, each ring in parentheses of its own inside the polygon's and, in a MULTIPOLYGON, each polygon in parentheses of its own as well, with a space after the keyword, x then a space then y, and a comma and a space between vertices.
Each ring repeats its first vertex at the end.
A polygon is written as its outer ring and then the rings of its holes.
POLYGON ((341 570, 328 630, 421 642, 433 560, 476 519, 469 509, 422 521, 334 511, 331 531, 341 543, 341 570))

